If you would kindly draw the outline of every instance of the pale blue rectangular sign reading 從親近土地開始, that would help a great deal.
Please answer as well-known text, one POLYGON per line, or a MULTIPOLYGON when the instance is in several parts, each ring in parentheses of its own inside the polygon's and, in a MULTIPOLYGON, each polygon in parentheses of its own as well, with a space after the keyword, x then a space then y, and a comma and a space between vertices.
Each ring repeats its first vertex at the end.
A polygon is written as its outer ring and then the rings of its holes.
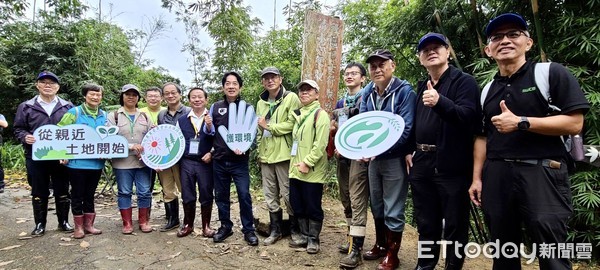
POLYGON ((43 125, 33 132, 31 157, 33 160, 127 157, 127 139, 117 132, 117 127, 43 125))

